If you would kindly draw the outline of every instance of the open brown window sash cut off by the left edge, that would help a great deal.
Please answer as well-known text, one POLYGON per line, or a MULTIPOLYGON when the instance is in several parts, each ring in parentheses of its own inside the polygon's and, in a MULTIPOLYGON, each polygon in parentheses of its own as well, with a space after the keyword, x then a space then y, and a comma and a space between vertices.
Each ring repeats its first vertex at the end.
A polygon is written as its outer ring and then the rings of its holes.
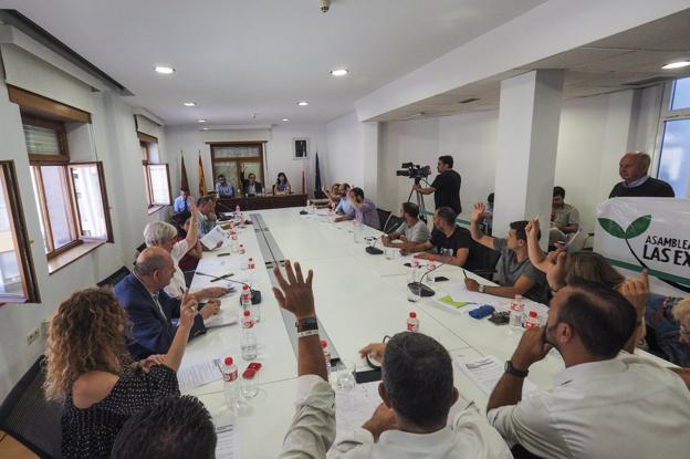
POLYGON ((12 161, 0 161, 0 303, 40 302, 12 161))

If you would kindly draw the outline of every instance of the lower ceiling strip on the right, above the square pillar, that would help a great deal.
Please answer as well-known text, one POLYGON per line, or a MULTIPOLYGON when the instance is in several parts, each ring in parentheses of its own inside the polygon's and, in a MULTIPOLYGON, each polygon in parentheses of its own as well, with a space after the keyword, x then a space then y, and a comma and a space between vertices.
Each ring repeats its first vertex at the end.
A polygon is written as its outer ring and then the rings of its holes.
POLYGON ((537 69, 565 70, 564 97, 588 97, 690 75, 690 67, 662 70, 690 59, 690 9, 588 43, 520 69, 396 108, 373 121, 416 119, 499 108, 501 80, 537 69), (470 97, 478 101, 461 104, 470 97))

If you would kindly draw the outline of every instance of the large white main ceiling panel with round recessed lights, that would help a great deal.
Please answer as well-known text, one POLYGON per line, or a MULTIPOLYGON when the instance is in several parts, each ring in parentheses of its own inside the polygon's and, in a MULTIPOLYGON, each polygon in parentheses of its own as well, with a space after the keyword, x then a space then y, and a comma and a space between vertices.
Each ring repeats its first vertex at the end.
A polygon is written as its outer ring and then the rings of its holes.
POLYGON ((166 124, 328 122, 546 0, 0 0, 166 124), (172 76, 154 73, 170 64, 172 76), (328 72, 345 66, 351 74, 328 72), (309 107, 299 107, 306 100, 309 107), (182 106, 195 101, 196 107, 182 106), (252 118, 252 114, 258 114, 252 118))

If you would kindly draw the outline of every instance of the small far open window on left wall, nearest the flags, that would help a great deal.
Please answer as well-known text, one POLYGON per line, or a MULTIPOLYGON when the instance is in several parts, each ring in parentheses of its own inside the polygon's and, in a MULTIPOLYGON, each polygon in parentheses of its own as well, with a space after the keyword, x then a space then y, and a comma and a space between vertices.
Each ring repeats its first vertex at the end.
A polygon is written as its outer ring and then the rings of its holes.
POLYGON ((146 179, 146 198, 151 213, 160 206, 169 206, 172 201, 170 173, 167 164, 158 164, 158 139, 143 133, 138 133, 138 136, 146 179))

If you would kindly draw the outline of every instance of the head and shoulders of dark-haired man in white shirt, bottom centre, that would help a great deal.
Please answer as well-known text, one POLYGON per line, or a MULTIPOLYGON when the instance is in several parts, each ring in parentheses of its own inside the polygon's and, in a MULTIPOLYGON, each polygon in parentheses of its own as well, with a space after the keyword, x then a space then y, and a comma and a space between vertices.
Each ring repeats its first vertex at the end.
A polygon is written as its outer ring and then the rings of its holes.
POLYGON ((383 356, 383 403, 362 428, 336 439, 328 458, 512 458, 474 404, 453 387, 452 361, 436 340, 402 332, 362 352, 383 356), (460 409, 449 419, 454 404, 460 409))

